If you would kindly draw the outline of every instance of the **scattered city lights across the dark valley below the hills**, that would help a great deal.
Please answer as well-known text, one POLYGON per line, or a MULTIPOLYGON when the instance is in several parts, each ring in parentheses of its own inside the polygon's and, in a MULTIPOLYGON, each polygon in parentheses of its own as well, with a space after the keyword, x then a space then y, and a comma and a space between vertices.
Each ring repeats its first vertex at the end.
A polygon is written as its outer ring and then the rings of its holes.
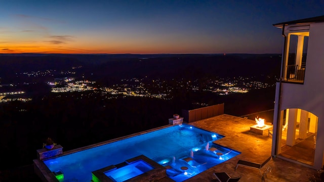
MULTIPOLYGON (((226 54, 224 54, 225 56, 226 54)), ((125 98, 125 97, 146 97, 171 100, 173 99, 173 90, 181 89, 185 92, 211 92, 219 96, 227 96, 231 94, 245 94, 251 89, 261 89, 275 86, 275 81, 271 83, 264 83, 256 81, 254 77, 226 77, 226 78, 203 78, 204 83, 201 84, 201 79, 186 80, 172 79, 170 82, 162 80, 160 78, 124 78, 120 79, 119 84, 113 84, 109 87, 105 85, 96 85, 96 81, 87 80, 85 76, 80 78, 71 77, 76 74, 78 68, 82 66, 74 66, 69 70, 46 70, 46 71, 30 71, 24 73, 16 73, 16 75, 32 76, 32 77, 51 77, 53 80, 47 81, 47 84, 51 87, 52 93, 73 93, 73 92, 87 92, 84 97, 77 97, 77 99, 96 97, 96 93, 100 94, 105 99, 125 98), (70 76, 58 76, 53 78, 54 75, 70 75, 70 76), (176 86, 175 86, 176 85, 176 86), (203 86, 201 86, 203 85, 203 86)), ((275 80, 276 78, 267 77, 269 80, 275 80)), ((36 82, 23 82, 23 85, 35 84, 36 82)), ((2 84, 1 86, 15 87, 19 83, 2 84)), ((0 93, 1 102, 9 102, 15 99, 4 98, 1 96, 19 95, 24 92, 6 92, 0 93)), ((61 97, 57 95, 56 97, 61 97)), ((21 101, 29 101, 29 99, 19 98, 21 101)), ((16 99, 17 100, 17 99, 16 99)), ((194 105, 208 106, 206 103, 193 102, 194 105)))

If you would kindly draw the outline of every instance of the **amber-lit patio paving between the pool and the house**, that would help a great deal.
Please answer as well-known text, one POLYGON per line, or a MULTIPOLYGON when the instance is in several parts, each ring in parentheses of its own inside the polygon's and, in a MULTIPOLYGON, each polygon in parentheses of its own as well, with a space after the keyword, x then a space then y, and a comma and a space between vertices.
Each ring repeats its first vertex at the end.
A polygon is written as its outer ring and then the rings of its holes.
POLYGON ((316 172, 314 169, 279 158, 272 158, 267 163, 272 168, 272 171, 267 173, 264 178, 258 169, 239 166, 235 170, 238 160, 263 163, 270 157, 272 138, 268 136, 268 132, 264 132, 263 135, 251 132, 250 126, 255 124, 254 120, 227 114, 191 122, 189 124, 224 135, 224 138, 215 141, 215 143, 239 151, 241 154, 187 179, 187 182, 217 181, 212 177, 213 172, 227 172, 232 177, 241 176, 240 181, 249 182, 309 181, 309 177, 316 172))

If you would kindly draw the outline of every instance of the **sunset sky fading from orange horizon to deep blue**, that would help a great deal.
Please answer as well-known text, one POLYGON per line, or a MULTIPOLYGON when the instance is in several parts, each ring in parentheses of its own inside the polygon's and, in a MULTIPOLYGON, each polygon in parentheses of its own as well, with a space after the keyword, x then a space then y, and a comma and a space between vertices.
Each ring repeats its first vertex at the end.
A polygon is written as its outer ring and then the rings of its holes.
POLYGON ((0 53, 281 53, 272 24, 322 15, 322 0, 11 0, 0 53))

